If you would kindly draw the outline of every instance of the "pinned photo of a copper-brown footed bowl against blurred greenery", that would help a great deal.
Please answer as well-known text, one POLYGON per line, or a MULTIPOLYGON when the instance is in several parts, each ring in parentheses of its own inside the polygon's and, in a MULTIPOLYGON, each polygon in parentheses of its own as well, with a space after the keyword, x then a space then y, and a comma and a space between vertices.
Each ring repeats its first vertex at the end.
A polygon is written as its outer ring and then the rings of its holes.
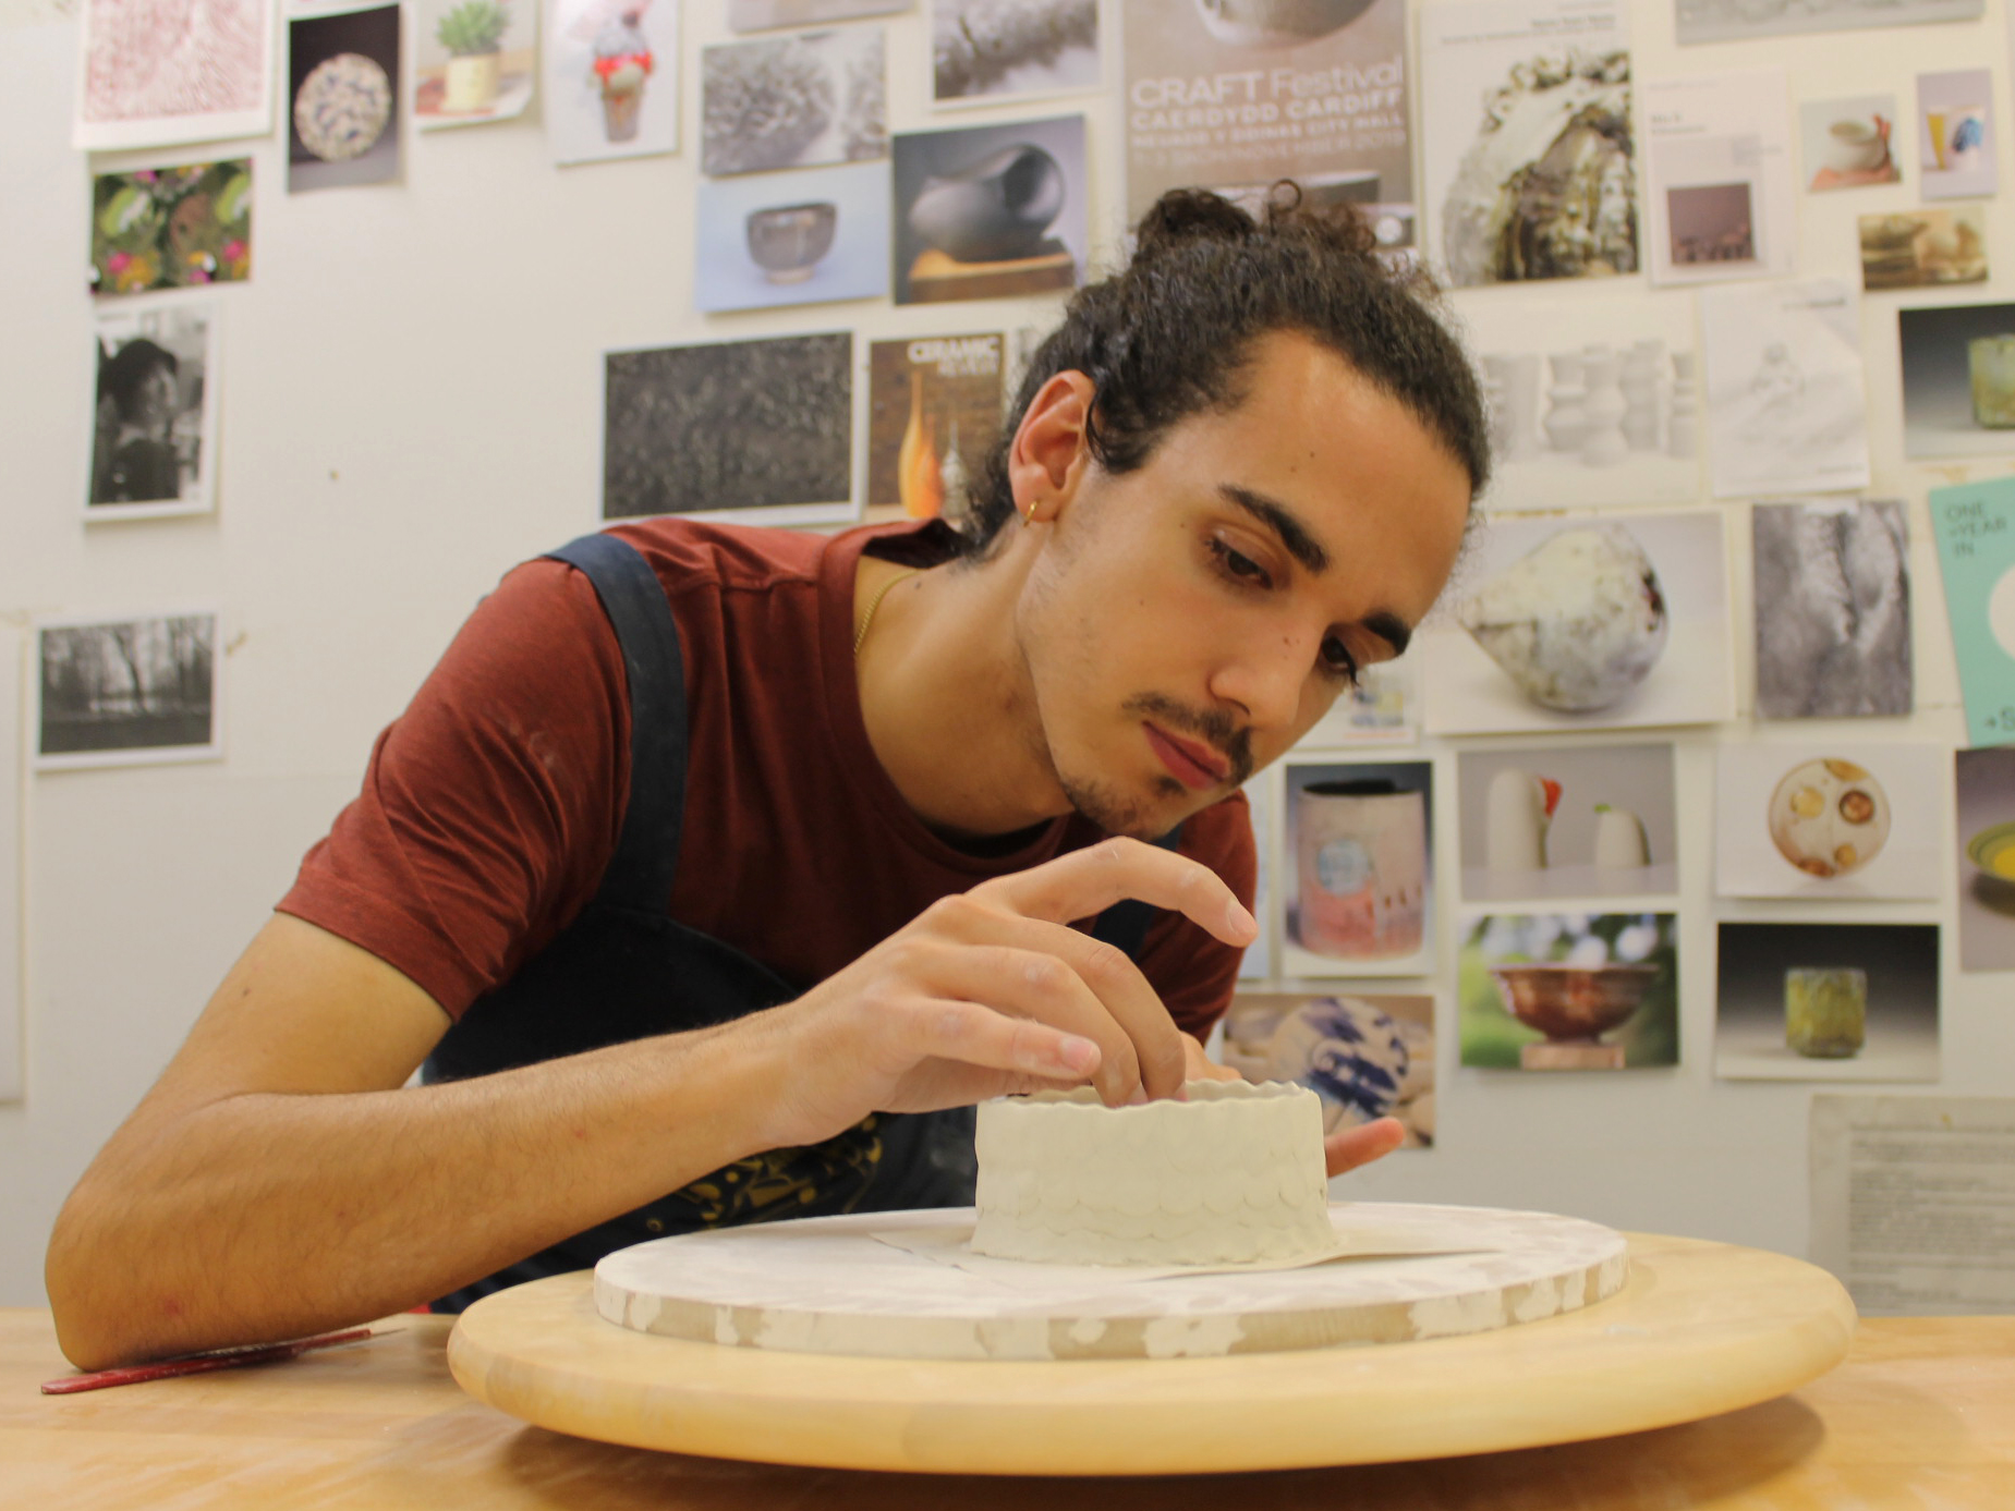
POLYGON ((1463 1064, 1678 1064, 1678 915, 1481 913, 1457 951, 1463 1064))

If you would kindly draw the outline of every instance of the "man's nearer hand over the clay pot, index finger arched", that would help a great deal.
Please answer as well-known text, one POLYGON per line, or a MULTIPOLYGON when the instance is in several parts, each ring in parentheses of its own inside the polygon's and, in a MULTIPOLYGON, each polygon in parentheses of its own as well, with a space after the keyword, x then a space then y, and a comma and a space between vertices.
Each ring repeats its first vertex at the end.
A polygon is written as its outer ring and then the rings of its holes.
POLYGON ((1213 870, 1138 840, 945 897, 806 995, 746 1019, 774 1036, 784 1068, 770 1142, 1044 1086, 1092 1082, 1108 1106, 1175 1096, 1193 1040, 1122 951, 1068 927, 1122 899, 1183 913, 1227 945, 1259 933, 1213 870))

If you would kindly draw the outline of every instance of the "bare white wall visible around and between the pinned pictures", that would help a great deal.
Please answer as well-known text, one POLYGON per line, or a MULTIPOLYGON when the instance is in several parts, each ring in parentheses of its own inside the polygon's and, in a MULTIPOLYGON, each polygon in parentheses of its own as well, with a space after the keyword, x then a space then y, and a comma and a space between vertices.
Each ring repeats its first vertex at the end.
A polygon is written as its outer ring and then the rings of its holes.
MULTIPOLYGON (((596 524, 604 347, 854 328, 864 363, 872 336, 1012 330, 1054 308, 1040 300, 907 310, 854 302, 693 314, 695 64, 697 44, 723 34, 719 10, 687 0, 685 151, 677 157, 554 169, 534 107, 518 125, 409 135, 401 185, 288 197, 284 143, 252 143, 256 268, 248 286, 220 294, 220 512, 87 530, 77 500, 89 425, 89 171, 143 159, 87 163, 69 149, 75 24, 56 0, 0 0, 0 141, 8 143, 0 165, 0 621, 212 600, 222 604, 230 647, 226 762, 20 780, 24 1096, 0 1104, 0 1303, 40 1303, 42 1245, 71 1183, 165 1064, 300 852, 355 790, 373 733, 399 711, 478 594, 512 562, 596 524)), ((1781 62, 1793 99, 1886 89, 1908 101, 1920 68, 1991 62, 2009 155, 2015 123, 1999 4, 1979 24, 1681 50, 1670 4, 1640 0, 1634 28, 1638 79, 1781 62)), ((1108 46, 1108 79, 1118 77, 1116 64, 1108 46)), ((1088 111, 1094 254, 1110 256, 1122 187, 1116 99, 933 117, 923 105, 925 66, 925 16, 891 18, 897 131, 1088 111)), ((151 161, 199 157, 202 149, 173 149, 151 161)), ((1872 197, 1888 191, 1864 193, 1801 201, 1801 274, 1858 282, 1852 218, 1890 208, 1872 197)), ((1967 298, 2015 296, 2007 216, 2005 197, 1989 205, 1995 282, 1967 298)), ((1872 492, 1904 496, 1912 508, 1922 711, 1886 721, 1878 737, 1953 743, 1963 739, 1963 721, 1924 490, 2007 463, 1904 463, 1896 302, 1870 298, 1864 310, 1872 492)), ((856 419, 864 419, 864 397, 862 373, 856 419)), ((856 425, 862 433, 864 423, 856 425)), ((1747 661, 1747 518, 1737 506, 1727 512, 1737 542, 1735 643, 1747 661)), ((1747 699, 1747 669, 1741 679, 1747 699)), ((14 717, 0 707, 0 739, 16 739, 14 717)), ((1586 1078, 1461 1072, 1443 987, 1439 1146, 1388 1160, 1354 1191, 1548 1207, 1803 1249, 1809 1090, 1715 1082, 1709 1068, 1713 739, 1713 731, 1678 733, 1685 1064, 1586 1078)), ((1433 743, 1431 751, 1445 762, 1441 790, 1453 800, 1453 758, 1433 743)), ((1451 876, 1453 802, 1437 818, 1441 872, 1451 876)), ((6 830, 0 822, 0 840, 6 830)), ((0 854, 0 872, 12 866, 14 856, 0 854)), ((1949 919, 1949 888, 1940 905, 1884 909, 1882 917, 1949 919)), ((1719 917, 1763 913, 1797 917, 1739 907, 1719 917)), ((1453 945, 1447 927, 1443 943, 1453 945)), ((0 957, 0 973, 8 967, 0 957)), ((1936 1090, 2003 1092, 2015 1068, 2015 977, 1959 975, 1949 929, 1944 983, 1946 1072, 1936 1090)))

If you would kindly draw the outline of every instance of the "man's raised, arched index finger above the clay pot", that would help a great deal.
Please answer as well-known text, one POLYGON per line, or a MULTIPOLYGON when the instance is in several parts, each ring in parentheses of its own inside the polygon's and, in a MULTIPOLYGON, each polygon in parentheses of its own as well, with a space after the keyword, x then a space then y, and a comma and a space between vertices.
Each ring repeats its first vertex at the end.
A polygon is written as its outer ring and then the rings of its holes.
POLYGON ((1259 937, 1257 921, 1215 870, 1140 840, 1102 840, 981 882, 967 897, 1050 923, 1088 919, 1122 899, 1138 899, 1181 913, 1227 945, 1249 945, 1259 937))

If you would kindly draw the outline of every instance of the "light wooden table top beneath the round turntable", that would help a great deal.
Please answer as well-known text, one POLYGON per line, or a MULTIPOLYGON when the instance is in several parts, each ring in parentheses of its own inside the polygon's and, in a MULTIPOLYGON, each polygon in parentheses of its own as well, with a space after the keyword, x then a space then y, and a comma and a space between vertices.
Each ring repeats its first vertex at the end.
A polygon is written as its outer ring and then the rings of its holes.
POLYGON ((69 1372, 46 1312, 0 1310, 0 1505, 48 1511, 820 1507, 1461 1511, 2015 1507, 2015 1318, 1866 1320, 1795 1394, 1689 1426, 1408 1465, 1165 1479, 782 1469, 526 1426, 447 1374, 445 1318, 216 1374, 42 1396, 69 1372))

